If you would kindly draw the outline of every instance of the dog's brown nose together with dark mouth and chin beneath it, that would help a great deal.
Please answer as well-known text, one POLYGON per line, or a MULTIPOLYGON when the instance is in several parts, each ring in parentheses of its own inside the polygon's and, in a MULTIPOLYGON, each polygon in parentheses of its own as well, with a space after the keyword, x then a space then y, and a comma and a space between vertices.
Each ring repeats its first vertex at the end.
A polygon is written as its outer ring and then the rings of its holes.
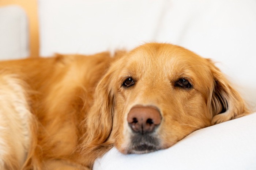
POLYGON ((141 154, 159 150, 160 142, 156 129, 161 120, 161 114, 156 107, 132 107, 127 116, 127 122, 132 130, 128 153, 141 154))

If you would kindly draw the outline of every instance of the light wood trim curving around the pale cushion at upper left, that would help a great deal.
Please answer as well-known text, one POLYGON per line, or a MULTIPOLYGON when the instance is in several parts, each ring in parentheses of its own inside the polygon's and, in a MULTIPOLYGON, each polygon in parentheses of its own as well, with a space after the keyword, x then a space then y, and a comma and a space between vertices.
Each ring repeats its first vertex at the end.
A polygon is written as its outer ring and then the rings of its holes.
POLYGON ((0 6, 19 5, 22 7, 29 20, 30 57, 39 56, 39 26, 37 0, 0 0, 0 6))

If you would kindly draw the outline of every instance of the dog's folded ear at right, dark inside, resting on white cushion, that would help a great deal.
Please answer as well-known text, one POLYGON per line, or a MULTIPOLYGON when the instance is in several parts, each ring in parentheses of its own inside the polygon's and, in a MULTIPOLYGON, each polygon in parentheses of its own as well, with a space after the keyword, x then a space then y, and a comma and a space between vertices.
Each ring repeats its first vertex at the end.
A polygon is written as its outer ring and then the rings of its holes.
POLYGON ((214 78, 214 85, 211 89, 212 94, 209 100, 212 124, 225 122, 248 114, 249 111, 240 94, 231 87, 228 80, 224 77, 222 72, 214 66, 211 60, 207 60, 210 63, 214 78))

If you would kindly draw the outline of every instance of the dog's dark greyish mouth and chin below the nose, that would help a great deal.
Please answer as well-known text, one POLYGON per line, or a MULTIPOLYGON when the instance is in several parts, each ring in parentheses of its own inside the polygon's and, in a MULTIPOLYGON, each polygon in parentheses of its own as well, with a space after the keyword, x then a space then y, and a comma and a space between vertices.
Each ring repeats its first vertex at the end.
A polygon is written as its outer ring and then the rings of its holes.
POLYGON ((159 139, 151 135, 134 135, 131 137, 131 145, 128 154, 144 154, 161 149, 159 139))

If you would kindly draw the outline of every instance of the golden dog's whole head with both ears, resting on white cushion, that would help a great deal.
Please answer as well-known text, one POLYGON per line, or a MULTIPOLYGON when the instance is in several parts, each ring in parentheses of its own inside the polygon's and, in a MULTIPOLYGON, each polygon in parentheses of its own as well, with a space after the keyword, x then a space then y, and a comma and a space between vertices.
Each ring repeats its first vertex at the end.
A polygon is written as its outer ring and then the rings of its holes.
POLYGON ((92 110, 91 140, 114 143, 125 154, 165 149, 195 130, 247 113, 211 60, 158 43, 112 64, 92 110))

